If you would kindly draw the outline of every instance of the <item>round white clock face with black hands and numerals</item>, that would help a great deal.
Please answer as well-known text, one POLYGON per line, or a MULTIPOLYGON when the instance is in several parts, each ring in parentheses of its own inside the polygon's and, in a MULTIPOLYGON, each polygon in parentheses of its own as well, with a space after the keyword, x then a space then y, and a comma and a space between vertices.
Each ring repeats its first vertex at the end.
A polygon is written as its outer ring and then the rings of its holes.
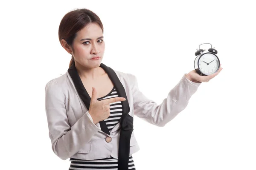
POLYGON ((203 54, 198 60, 198 68, 205 75, 213 74, 219 68, 219 60, 214 54, 203 54))

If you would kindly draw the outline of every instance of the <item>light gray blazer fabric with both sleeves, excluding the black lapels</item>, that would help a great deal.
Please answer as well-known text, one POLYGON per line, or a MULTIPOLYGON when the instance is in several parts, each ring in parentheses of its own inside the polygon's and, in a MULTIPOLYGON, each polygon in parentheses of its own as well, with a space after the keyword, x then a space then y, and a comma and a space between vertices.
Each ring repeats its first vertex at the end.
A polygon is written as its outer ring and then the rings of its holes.
MULTIPOLYGON (((115 70, 114 70, 115 71, 115 70)), ((191 82, 185 74, 168 93, 160 105, 145 97, 138 88, 133 74, 115 71, 125 88, 130 112, 147 122, 163 127, 188 105, 189 99, 201 83, 191 82)), ((47 82, 45 87, 45 109, 49 138, 53 152, 61 159, 103 159, 118 157, 120 123, 110 131, 103 132, 99 123, 93 124, 90 114, 79 97, 68 71, 47 82), (111 142, 106 142, 106 137, 111 142)), ((130 141, 130 154, 140 150, 134 130, 130 141)))

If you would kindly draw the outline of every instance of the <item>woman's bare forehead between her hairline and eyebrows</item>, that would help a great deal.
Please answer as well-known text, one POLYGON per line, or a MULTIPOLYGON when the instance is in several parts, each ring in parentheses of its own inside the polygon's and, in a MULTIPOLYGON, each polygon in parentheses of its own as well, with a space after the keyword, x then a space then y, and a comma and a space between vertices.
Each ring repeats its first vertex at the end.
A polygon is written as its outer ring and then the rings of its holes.
POLYGON ((96 39, 102 36, 102 28, 96 23, 90 23, 77 32, 77 38, 79 40, 83 38, 96 39))

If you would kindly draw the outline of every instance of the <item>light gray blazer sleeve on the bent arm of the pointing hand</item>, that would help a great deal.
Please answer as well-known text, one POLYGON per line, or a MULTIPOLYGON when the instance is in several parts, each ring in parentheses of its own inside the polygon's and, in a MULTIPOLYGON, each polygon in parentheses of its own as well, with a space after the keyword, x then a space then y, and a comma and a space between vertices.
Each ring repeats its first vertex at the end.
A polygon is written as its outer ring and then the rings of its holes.
POLYGON ((56 80, 51 80, 45 87, 45 110, 49 128, 49 137, 53 152, 62 160, 73 156, 82 144, 90 141, 100 130, 89 117, 88 111, 71 127, 68 121, 65 101, 56 80))

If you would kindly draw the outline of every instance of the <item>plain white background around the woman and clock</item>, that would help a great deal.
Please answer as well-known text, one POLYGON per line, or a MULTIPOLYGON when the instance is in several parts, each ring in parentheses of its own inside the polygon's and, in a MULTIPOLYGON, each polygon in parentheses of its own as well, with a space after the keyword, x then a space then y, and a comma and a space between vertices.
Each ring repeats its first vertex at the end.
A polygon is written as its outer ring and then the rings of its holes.
POLYGON ((199 44, 218 50, 223 70, 200 85, 175 119, 157 127, 134 118, 137 170, 256 169, 256 10, 247 0, 2 2, 0 169, 69 167, 51 149, 44 87, 68 69, 58 26, 75 8, 102 20, 102 63, 134 74, 157 104, 194 69, 199 44))

